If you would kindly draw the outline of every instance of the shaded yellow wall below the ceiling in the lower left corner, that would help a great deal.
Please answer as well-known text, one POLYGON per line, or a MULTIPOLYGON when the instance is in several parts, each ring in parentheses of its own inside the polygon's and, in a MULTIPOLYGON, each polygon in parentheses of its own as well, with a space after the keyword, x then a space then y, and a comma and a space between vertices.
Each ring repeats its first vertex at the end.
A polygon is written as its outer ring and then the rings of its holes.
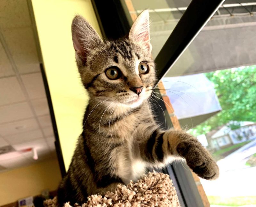
POLYGON ((61 179, 57 159, 0 173, 0 206, 56 190, 61 179))

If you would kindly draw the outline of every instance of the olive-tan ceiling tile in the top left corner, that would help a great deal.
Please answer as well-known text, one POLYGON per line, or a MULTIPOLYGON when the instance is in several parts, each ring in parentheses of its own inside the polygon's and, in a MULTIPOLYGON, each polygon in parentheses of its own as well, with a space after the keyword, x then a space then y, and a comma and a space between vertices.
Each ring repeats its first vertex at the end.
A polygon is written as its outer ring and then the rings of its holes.
POLYGON ((0 13, 1 28, 27 27, 31 25, 27 1, 1 0, 0 13))

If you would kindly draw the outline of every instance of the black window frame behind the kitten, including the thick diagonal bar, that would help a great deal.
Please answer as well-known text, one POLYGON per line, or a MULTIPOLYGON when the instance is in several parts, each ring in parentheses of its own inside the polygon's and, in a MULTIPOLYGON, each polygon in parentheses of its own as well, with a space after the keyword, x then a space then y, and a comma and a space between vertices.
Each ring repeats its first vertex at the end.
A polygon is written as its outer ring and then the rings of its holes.
MULTIPOLYGON (((158 80, 161 80, 167 71, 175 64, 181 54, 187 49, 189 44, 224 1, 225 0, 191 1, 155 59, 157 66, 156 78, 158 80)), ((132 19, 124 0, 92 0, 92 5, 104 39, 118 39, 129 33, 132 19)), ((157 90, 155 89, 155 91, 157 90)), ((161 99, 162 97, 158 96, 158 98, 161 99)), ((158 103, 163 108, 163 111, 158 111, 157 118, 161 123, 165 123, 164 120, 167 118, 166 126, 172 127, 163 101, 158 100, 158 103)), ((184 166, 184 164, 182 165, 181 163, 173 163, 164 168, 162 172, 169 174, 172 178, 177 189, 181 206, 204 206, 196 183, 187 165, 184 166)))

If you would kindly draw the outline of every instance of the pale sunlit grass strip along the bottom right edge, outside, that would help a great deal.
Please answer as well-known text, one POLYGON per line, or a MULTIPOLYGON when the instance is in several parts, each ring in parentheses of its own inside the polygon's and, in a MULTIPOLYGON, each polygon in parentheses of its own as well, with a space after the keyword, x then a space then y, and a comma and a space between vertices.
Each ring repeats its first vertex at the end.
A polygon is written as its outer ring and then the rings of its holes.
POLYGON ((210 204, 224 206, 242 206, 256 204, 256 196, 221 197, 207 196, 210 204))

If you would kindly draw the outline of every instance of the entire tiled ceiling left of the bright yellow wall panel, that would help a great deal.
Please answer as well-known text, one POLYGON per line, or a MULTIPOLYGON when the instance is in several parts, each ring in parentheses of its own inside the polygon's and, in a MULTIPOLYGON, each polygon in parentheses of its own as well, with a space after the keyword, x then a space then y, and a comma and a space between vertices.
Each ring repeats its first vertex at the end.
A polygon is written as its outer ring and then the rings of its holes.
POLYGON ((1 172, 56 157, 36 28, 27 3, 0 1, 1 172))

